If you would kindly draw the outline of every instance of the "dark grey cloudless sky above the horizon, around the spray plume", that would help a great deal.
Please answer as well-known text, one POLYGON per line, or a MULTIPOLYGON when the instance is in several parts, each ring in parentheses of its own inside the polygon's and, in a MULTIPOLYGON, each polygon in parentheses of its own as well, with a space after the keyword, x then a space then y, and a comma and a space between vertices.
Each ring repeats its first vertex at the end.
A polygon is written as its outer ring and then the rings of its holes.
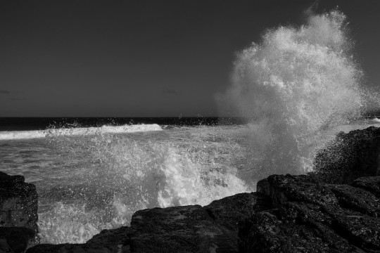
MULTIPOLYGON (((0 1, 0 117, 218 116, 236 52, 315 1, 0 1)), ((379 86, 380 1, 321 0, 348 16, 379 86)))

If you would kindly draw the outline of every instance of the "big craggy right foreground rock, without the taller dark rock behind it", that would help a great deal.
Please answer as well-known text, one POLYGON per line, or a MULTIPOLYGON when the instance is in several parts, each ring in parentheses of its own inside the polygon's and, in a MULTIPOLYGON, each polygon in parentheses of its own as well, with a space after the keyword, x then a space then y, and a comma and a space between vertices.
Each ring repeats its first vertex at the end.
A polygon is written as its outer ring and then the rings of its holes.
POLYGON ((240 223, 241 252, 380 252, 380 199, 372 187, 379 176, 373 178, 352 186, 289 174, 259 181, 258 192, 276 209, 240 223))

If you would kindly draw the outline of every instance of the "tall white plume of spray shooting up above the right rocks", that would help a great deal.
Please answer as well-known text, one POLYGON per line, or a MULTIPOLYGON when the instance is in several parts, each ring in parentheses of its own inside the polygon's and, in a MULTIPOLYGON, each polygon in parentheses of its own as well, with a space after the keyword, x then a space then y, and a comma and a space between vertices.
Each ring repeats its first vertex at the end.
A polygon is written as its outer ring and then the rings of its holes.
POLYGON ((309 15, 306 25, 267 30, 238 54, 220 100, 251 121, 251 176, 312 170, 315 150, 328 141, 323 132, 360 116, 363 74, 346 25, 338 10, 309 15))

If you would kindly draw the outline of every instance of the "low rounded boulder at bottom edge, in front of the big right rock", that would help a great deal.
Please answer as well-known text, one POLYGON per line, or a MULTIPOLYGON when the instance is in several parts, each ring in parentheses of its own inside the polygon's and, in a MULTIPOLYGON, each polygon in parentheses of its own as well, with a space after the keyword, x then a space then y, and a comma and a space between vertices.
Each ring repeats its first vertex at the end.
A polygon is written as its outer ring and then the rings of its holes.
POLYGON ((346 240, 326 227, 285 223, 270 212, 259 212, 242 223, 240 252, 349 252, 346 240))

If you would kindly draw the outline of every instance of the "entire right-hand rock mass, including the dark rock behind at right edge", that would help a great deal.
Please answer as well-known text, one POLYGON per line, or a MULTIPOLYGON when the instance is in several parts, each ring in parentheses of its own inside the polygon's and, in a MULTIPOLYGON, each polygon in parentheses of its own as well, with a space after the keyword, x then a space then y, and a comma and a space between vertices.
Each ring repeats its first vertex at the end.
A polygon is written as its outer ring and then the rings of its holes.
POLYGON ((258 182, 275 208, 239 223, 241 252, 380 252, 380 129, 341 132, 315 169, 258 182))

